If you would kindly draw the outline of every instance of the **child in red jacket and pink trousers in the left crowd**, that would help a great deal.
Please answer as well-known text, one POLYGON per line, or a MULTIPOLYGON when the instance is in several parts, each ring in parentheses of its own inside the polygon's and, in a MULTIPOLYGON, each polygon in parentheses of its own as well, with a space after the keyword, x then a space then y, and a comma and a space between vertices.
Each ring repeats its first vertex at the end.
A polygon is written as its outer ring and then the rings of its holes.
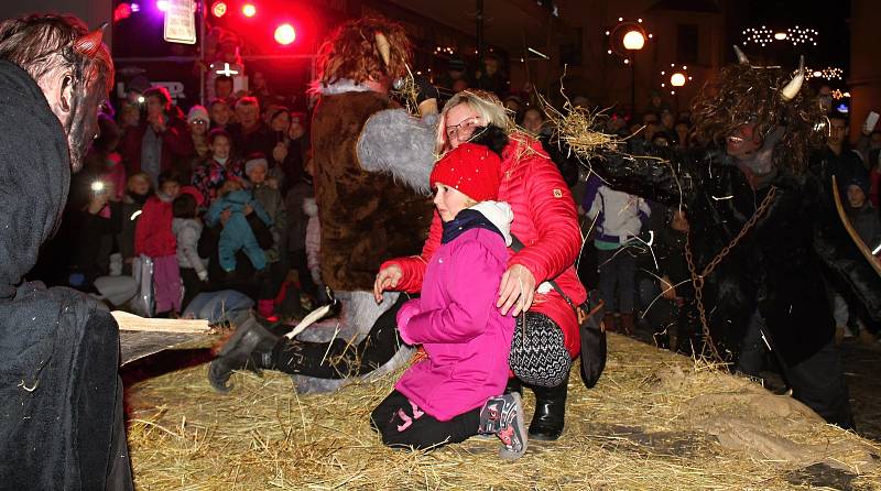
POLYGON ((153 291, 156 316, 181 312, 181 272, 177 266, 177 240, 172 231, 172 203, 181 192, 177 177, 159 176, 159 192, 146 200, 134 229, 134 254, 153 260, 153 291))

